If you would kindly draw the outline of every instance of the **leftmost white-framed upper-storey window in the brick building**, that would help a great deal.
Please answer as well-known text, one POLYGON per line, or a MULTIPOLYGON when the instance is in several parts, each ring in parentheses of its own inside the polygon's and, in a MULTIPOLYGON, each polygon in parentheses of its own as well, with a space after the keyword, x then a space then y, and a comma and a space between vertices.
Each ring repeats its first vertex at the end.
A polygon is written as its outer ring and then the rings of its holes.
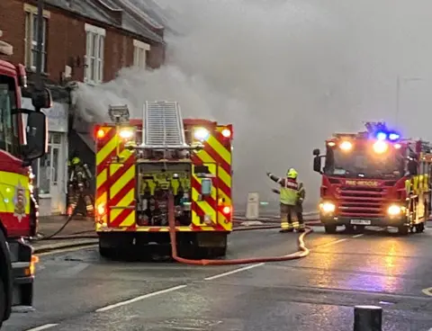
MULTIPOLYGON (((28 4, 24 5, 25 11, 25 66, 32 71, 37 67, 38 54, 38 10, 28 4)), ((42 24, 42 66, 41 71, 47 72, 47 31, 49 13, 43 13, 42 24)))

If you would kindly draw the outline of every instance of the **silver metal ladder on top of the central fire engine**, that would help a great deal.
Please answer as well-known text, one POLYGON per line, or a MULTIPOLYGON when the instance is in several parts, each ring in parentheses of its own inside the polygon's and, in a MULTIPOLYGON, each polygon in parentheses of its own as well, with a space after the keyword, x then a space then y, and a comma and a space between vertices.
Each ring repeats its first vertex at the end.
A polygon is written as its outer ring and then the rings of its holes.
POLYGON ((146 148, 184 148, 184 126, 180 106, 176 102, 146 102, 143 110, 142 141, 146 148))

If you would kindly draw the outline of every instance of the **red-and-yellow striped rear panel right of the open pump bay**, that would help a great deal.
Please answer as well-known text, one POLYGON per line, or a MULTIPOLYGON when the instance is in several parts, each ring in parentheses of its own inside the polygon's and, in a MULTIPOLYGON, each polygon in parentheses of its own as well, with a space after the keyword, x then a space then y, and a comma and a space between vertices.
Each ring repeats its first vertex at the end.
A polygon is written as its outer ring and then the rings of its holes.
POLYGON ((215 163, 203 163, 193 165, 193 188, 192 188, 192 222, 193 226, 205 227, 217 224, 218 199, 217 199, 217 165, 215 163), (211 194, 202 194, 202 189, 209 189, 211 183, 211 194))

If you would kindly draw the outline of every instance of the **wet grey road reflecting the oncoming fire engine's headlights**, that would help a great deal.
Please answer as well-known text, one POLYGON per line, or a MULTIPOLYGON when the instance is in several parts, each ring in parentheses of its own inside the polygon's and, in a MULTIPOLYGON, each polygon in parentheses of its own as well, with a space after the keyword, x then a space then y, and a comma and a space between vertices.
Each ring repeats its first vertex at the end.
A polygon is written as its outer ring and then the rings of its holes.
MULTIPOLYGON (((310 256, 284 263, 116 262, 95 247, 41 255, 36 311, 15 314, 4 330, 344 331, 356 304, 382 306, 384 330, 432 327, 431 228, 410 237, 322 231, 307 237, 310 256)), ((237 232, 229 257, 285 255, 296 237, 237 232)))

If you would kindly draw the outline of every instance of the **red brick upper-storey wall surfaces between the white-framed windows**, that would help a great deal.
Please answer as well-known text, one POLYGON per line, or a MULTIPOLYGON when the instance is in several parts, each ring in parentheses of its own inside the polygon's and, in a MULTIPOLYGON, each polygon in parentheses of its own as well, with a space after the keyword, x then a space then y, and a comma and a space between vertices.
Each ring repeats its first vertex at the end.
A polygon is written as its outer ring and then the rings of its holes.
MULTIPOLYGON (((27 1, 34 5, 35 3, 27 1)), ((49 11, 47 40, 47 71, 49 79, 58 82, 69 59, 75 60, 73 80, 84 79, 85 56, 85 20, 57 8, 45 5, 49 11), (76 59, 79 58, 79 67, 76 59)), ((105 28, 105 49, 103 81, 112 80, 121 67, 133 64, 133 39, 114 28, 103 27, 103 24, 89 22, 105 28)), ((0 30, 4 32, 2 40, 14 45, 14 56, 8 57, 13 63, 24 62, 25 13, 23 0, 0 0, 0 30)), ((152 45, 148 54, 148 67, 160 67, 165 58, 162 46, 152 45)))

